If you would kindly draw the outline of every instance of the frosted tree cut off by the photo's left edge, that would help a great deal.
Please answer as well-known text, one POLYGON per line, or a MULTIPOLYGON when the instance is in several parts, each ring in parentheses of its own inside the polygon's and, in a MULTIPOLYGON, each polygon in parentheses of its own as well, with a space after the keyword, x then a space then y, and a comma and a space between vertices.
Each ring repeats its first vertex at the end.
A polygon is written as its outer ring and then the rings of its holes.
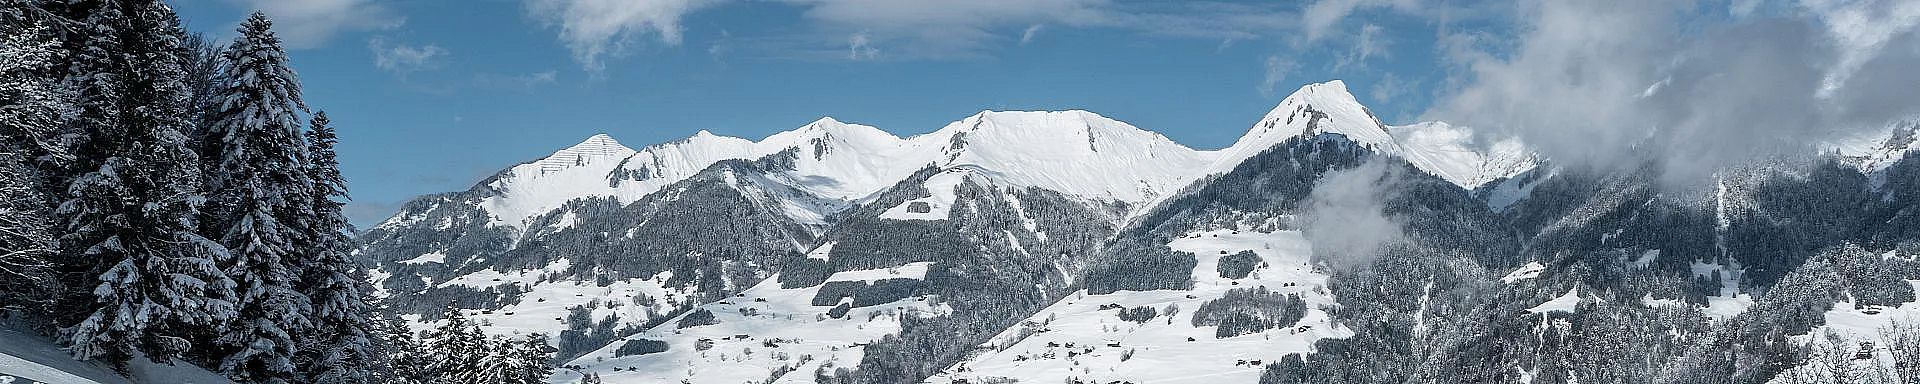
POLYGON ((54 198, 42 169, 67 159, 54 134, 71 104, 60 92, 63 50, 48 17, 25 0, 0 0, 0 307, 10 309, 58 288, 48 271, 54 198))

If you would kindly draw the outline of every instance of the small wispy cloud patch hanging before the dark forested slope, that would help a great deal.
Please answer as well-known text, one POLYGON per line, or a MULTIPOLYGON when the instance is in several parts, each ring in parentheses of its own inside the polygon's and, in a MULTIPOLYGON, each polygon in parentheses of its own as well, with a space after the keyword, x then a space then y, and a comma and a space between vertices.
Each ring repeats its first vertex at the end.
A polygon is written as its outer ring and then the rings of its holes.
POLYGON ((1380 248, 1405 238, 1402 225, 1386 217, 1386 196, 1398 179, 1386 161, 1369 159, 1359 167, 1327 173, 1313 182, 1302 205, 1302 234, 1313 242, 1313 259, 1340 267, 1363 265, 1380 248))

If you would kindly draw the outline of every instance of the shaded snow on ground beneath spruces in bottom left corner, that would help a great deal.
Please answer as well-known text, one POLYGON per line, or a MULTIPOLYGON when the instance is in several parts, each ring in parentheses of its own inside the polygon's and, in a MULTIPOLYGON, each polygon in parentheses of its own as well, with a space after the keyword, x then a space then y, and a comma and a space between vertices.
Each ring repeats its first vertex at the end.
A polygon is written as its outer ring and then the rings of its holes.
POLYGON ((219 384, 227 382, 219 374, 192 365, 156 365, 146 357, 129 363, 129 376, 119 376, 113 369, 77 361, 60 349, 52 340, 38 334, 0 324, 0 382, 46 382, 46 384, 219 384))

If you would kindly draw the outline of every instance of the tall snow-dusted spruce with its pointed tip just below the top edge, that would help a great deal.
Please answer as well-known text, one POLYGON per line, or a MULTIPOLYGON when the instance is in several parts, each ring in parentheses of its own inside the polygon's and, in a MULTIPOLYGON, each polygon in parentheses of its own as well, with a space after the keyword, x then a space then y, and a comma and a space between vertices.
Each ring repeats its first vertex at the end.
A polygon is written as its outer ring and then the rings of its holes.
POLYGON ((255 12, 227 46, 227 81, 207 127, 207 234, 232 257, 238 317, 215 340, 215 367, 240 382, 298 378, 296 336, 309 332, 309 301, 296 290, 303 261, 301 223, 311 217, 300 84, 273 21, 255 12))

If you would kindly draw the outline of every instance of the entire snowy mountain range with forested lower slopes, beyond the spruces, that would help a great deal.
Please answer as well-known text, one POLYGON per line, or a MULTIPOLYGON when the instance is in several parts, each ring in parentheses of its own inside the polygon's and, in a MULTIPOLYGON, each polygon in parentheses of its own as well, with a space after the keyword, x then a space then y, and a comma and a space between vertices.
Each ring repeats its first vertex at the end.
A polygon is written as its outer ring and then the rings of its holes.
POLYGON ((419 328, 551 334, 553 382, 1764 382, 1920 315, 1912 131, 1713 194, 1384 125, 1340 81, 1221 150, 1091 111, 595 134, 359 255, 419 328))

